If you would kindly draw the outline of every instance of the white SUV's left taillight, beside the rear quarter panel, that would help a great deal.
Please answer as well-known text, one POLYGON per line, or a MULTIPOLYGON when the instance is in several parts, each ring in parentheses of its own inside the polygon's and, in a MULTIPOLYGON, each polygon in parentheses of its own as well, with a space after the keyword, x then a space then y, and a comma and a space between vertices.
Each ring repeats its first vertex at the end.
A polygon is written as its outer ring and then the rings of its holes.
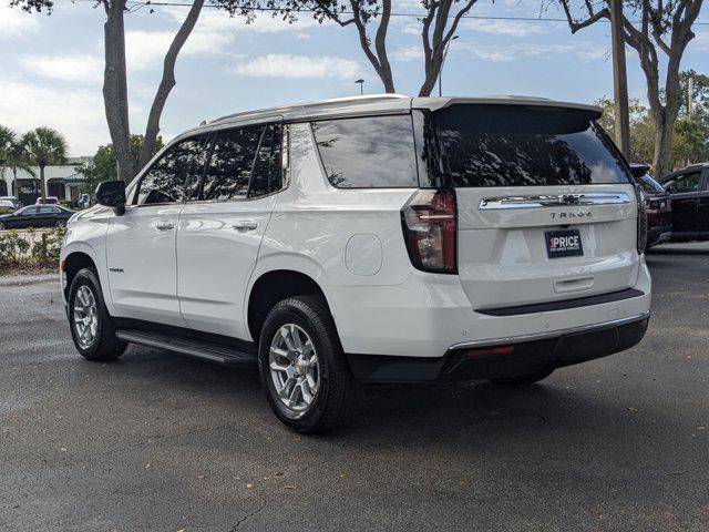
POLYGON ((458 213, 453 190, 421 190, 401 209, 403 237, 417 269, 456 274, 458 213))

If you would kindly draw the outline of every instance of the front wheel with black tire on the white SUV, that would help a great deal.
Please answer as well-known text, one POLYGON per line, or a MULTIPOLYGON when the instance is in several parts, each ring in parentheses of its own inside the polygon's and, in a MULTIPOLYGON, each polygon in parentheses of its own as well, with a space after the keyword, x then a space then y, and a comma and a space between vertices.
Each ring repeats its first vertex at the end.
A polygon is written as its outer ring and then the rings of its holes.
POLYGON ((127 342, 115 336, 113 318, 106 310, 99 276, 93 268, 81 269, 69 289, 69 326, 82 357, 103 361, 119 358, 127 342))

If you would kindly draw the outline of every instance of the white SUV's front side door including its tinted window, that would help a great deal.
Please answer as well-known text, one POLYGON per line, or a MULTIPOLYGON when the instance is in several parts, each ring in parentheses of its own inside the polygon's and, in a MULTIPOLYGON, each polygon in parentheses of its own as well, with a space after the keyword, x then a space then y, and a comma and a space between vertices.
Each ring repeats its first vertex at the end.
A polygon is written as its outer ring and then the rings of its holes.
POLYGON ((119 316, 184 326, 177 301, 175 236, 197 180, 201 136, 168 146, 131 186, 125 214, 109 225, 106 263, 119 316))

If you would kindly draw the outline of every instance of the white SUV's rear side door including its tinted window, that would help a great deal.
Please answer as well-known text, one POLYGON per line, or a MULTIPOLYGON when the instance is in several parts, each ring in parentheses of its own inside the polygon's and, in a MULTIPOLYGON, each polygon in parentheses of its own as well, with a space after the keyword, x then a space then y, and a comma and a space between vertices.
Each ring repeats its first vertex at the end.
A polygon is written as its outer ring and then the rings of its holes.
POLYGON ((281 187, 280 124, 215 134, 177 231, 177 293, 189 327, 246 338, 245 290, 281 187))

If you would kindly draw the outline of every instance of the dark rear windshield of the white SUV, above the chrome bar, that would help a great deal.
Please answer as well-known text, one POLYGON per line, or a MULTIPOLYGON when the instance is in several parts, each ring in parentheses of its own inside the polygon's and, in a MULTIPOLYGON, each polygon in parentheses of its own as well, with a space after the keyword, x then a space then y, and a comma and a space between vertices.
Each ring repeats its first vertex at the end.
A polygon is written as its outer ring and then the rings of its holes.
POLYGON ((625 163, 584 110, 452 105, 433 113, 454 186, 627 183, 625 163))

